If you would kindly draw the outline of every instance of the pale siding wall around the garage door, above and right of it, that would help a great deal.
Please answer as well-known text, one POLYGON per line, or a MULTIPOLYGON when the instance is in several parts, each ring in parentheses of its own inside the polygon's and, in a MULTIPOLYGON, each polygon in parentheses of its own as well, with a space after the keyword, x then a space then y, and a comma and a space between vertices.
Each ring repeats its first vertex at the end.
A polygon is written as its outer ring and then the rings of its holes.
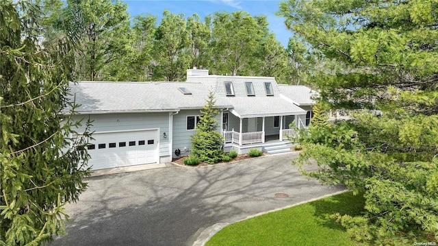
POLYGON ((83 119, 83 126, 77 130, 78 133, 83 132, 88 117, 93 121, 91 130, 96 133, 159 129, 160 162, 170 161, 169 139, 164 138, 164 132, 167 136, 169 134, 168 112, 75 115, 75 119, 83 119))

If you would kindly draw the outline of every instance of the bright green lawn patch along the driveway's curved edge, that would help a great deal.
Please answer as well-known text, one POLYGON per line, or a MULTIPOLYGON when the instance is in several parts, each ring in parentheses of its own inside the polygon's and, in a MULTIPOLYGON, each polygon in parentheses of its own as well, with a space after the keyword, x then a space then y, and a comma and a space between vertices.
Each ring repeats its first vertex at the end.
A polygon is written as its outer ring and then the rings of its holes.
POLYGON ((206 245, 359 245, 329 216, 359 214, 363 204, 351 192, 311 201, 224 227, 206 245))

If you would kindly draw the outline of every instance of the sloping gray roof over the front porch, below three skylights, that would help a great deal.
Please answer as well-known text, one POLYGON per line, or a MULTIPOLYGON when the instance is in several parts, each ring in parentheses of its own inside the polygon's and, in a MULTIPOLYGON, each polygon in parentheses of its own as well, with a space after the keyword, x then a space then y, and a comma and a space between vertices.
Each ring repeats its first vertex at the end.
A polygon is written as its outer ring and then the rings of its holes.
POLYGON ((302 108, 281 97, 227 97, 233 105, 229 111, 240 118, 306 114, 302 108))

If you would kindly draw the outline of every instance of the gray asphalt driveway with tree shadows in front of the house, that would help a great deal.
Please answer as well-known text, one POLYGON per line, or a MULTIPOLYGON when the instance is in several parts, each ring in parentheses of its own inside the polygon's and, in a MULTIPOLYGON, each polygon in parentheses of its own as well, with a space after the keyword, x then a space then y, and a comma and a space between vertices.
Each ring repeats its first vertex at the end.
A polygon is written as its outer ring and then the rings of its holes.
POLYGON ((51 245, 193 245, 215 225, 343 189, 307 180, 290 164, 296 155, 88 178, 67 206, 68 235, 51 245))

